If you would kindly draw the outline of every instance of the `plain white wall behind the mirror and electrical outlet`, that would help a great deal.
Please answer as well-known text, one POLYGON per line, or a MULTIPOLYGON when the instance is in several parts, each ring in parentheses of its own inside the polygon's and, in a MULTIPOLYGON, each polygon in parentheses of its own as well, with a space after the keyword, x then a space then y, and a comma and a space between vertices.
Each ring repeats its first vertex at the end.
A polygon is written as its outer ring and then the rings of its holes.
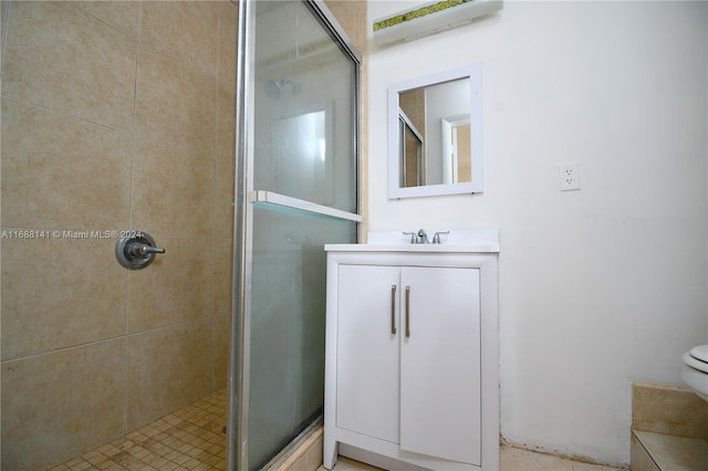
MULTIPOLYGON (((371 21, 400 10, 371 1, 371 21)), ((516 2, 369 56, 369 230, 500 229, 501 430, 628 463, 631 383, 708 341, 706 2, 516 2), (483 195, 388 200, 386 87, 483 64, 483 195), (556 164, 580 164, 560 192, 556 164)), ((371 34, 371 33, 369 33, 371 34)))

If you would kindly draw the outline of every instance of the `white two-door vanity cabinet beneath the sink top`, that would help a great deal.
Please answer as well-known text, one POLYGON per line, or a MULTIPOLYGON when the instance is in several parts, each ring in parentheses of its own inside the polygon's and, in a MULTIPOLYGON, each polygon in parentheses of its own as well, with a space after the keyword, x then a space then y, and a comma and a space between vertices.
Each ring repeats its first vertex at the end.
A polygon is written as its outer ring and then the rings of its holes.
POLYGON ((498 469, 497 253, 325 249, 324 467, 498 469))

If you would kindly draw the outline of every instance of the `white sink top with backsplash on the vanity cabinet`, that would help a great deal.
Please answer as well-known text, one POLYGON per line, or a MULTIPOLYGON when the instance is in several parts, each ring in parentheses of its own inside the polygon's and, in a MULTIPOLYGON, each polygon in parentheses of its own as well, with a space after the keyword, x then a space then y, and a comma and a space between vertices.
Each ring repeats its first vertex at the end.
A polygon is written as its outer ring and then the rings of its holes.
MULTIPOLYGON (((414 230, 412 229, 410 232, 414 230)), ((444 229, 426 229, 429 239, 444 229)), ((368 243, 326 245, 327 250, 361 252, 499 252, 498 230, 450 230, 440 236, 440 243, 410 243, 404 231, 376 231, 368 233, 368 243)), ((408 231, 406 231, 408 232, 408 231)), ((417 232, 417 230, 415 230, 417 232)))

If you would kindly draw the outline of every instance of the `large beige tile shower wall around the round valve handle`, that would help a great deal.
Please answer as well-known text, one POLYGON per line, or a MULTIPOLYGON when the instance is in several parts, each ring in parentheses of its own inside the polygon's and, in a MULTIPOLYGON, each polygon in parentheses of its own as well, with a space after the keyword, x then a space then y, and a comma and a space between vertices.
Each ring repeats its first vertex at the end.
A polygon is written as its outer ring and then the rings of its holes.
POLYGON ((1 459, 37 470, 226 385, 237 11, 4 7, 1 459), (127 229, 167 253, 91 237, 127 229))

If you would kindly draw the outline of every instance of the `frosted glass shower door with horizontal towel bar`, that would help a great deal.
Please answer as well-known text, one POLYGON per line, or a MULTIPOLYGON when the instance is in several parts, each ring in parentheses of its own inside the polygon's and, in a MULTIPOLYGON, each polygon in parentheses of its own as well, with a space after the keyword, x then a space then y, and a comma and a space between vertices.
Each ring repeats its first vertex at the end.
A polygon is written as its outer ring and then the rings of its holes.
POLYGON ((241 12, 251 20, 242 56, 251 66, 239 126, 237 447, 238 469, 251 470, 322 414, 324 244, 355 242, 361 221, 358 60, 320 2, 253 2, 241 12))

